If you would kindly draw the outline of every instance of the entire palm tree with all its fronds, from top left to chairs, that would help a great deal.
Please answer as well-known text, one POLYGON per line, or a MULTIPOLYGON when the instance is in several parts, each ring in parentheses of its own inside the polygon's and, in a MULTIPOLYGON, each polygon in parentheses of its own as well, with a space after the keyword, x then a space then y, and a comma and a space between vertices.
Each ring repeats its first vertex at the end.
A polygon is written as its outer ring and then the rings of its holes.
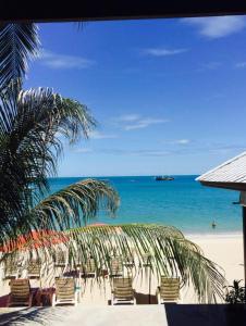
MULTIPOLYGON (((0 26, 0 246, 34 229, 63 231, 72 256, 95 259, 150 252, 151 272, 179 275, 201 301, 222 297, 224 277, 195 243, 174 227, 151 224, 85 226, 101 205, 114 214, 120 200, 107 183, 87 179, 50 195, 62 153, 60 137, 74 142, 96 126, 88 109, 49 88, 22 89, 28 60, 37 54, 35 24, 0 26)), ((33 240, 34 242, 35 240, 33 240)), ((32 240, 27 246, 32 248, 32 240)))

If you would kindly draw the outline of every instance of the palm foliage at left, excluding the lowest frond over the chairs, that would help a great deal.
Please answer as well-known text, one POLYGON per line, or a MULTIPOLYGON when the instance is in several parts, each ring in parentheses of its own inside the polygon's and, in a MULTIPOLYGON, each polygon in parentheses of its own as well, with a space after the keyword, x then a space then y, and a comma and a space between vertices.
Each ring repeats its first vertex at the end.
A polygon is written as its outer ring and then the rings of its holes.
POLYGON ((96 121, 51 88, 22 89, 38 43, 35 24, 0 25, 0 246, 32 229, 81 226, 101 203, 112 213, 119 204, 116 191, 96 180, 48 197, 63 141, 87 138, 96 121))

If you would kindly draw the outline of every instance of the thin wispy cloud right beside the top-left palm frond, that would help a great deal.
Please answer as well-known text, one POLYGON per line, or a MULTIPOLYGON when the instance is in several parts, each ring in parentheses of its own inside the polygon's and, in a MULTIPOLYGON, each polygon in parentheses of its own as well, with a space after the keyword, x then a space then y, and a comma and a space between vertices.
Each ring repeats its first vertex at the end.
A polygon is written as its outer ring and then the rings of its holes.
POLYGON ((59 54, 47 50, 42 50, 38 59, 41 64, 56 70, 87 68, 95 64, 93 60, 82 57, 59 54))

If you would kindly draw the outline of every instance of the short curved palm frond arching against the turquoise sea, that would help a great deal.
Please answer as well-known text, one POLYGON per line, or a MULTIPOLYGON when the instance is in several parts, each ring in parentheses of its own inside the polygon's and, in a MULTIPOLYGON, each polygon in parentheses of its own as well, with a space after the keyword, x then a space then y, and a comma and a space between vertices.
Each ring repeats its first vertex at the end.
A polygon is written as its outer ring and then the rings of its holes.
POLYGON ((86 224, 99 210, 114 215, 119 204, 119 195, 108 183, 86 179, 40 201, 30 211, 29 218, 37 228, 62 230, 86 224))

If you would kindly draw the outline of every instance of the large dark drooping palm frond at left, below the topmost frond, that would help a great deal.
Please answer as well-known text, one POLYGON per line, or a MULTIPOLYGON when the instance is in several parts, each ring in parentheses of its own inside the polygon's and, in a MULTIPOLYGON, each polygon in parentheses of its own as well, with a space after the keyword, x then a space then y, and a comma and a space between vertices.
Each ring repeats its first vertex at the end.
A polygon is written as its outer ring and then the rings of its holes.
MULTIPOLYGON (((74 142, 95 126, 87 108, 52 89, 19 91, 13 84, 0 93, 0 230, 20 233, 34 203, 48 193, 62 153, 59 135, 74 142)), ((26 224, 28 225, 28 224, 26 224)), ((30 227, 28 225, 28 227, 30 227)), ((15 234, 14 234, 15 235, 15 234)))

